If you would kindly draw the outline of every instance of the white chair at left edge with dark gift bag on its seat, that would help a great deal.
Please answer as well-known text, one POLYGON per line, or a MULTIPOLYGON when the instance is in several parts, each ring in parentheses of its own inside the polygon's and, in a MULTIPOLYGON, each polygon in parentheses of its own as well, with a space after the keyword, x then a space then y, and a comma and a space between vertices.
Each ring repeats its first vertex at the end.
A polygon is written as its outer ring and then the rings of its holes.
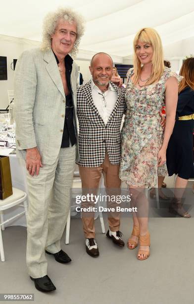
POLYGON ((0 200, 0 258, 1 262, 4 262, 4 250, 3 250, 3 242, 2 242, 2 232, 1 230, 4 230, 4 224, 18 218, 22 214, 25 213, 27 216, 28 214, 28 205, 26 201, 26 193, 20 189, 13 188, 13 194, 9 197, 7 197, 4 200, 0 200), (11 217, 7 219, 6 221, 3 220, 3 210, 7 210, 13 206, 20 206, 24 207, 24 211, 21 213, 16 214, 14 217, 11 217))

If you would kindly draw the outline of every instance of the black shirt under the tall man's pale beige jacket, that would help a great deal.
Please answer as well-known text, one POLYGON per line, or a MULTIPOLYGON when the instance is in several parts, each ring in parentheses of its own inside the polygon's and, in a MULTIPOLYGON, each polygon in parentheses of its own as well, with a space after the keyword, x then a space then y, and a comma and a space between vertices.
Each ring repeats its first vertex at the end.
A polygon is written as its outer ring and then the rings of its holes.
MULTIPOLYGON (((52 51, 53 52, 53 51, 52 51)), ((54 54, 54 52, 53 52, 54 54)), ((58 65, 59 61, 56 55, 54 54, 56 59, 56 63, 58 65)), ((61 148, 68 148, 69 147, 69 140, 71 141, 71 146, 74 146, 76 143, 76 135, 75 135, 75 128, 73 124, 73 99, 72 99, 72 91, 71 91, 71 72, 72 72, 72 64, 73 59, 71 56, 66 55, 64 59, 65 63, 65 76, 67 81, 67 87, 69 90, 69 94, 65 96, 65 120, 64 120, 64 127, 63 127, 63 135, 62 135, 62 142, 61 148)))

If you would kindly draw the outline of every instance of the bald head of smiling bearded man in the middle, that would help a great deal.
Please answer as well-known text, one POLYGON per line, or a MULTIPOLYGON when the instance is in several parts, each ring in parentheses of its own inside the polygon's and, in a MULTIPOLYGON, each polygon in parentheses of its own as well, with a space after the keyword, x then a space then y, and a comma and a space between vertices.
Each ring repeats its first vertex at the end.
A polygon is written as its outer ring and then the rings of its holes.
POLYGON ((112 77, 112 58, 106 53, 97 53, 91 60, 90 72, 100 90, 108 86, 112 77))

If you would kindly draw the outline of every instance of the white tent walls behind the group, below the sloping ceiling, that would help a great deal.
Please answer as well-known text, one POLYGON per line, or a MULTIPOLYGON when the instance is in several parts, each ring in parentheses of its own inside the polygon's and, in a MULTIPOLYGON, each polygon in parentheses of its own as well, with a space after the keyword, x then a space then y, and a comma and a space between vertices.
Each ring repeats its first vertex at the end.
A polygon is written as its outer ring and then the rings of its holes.
MULTIPOLYGON (((13 59, 18 59, 20 54, 26 50, 31 49, 34 47, 38 47, 40 45, 40 42, 38 41, 32 41, 28 39, 20 39, 16 37, 10 37, 10 36, 4 36, 0 35, 0 56, 6 56, 7 57, 7 80, 1 80, 0 81, 0 108, 4 109, 8 105, 8 97, 7 97, 7 90, 13 89, 13 82, 14 82, 14 71, 11 70, 11 63, 13 62, 13 59)), ((171 62, 171 69, 172 71, 178 72, 180 71, 182 61, 184 58, 184 55, 190 55, 193 51, 193 45, 194 45, 194 38, 192 39, 185 39, 183 41, 179 41, 176 43, 176 45, 173 44, 173 47, 176 47, 180 50, 180 55, 182 57, 179 58, 173 58, 173 48, 172 46, 166 46, 164 53, 172 56, 167 57, 165 56, 166 60, 169 60, 171 62)), ((84 83, 89 81, 91 79, 91 74, 89 70, 90 66, 90 60, 95 55, 96 52, 91 51, 85 51, 80 50, 75 62, 80 67, 80 72, 83 75, 84 83)), ((112 56, 113 62, 119 63, 119 64, 133 64, 132 56, 131 58, 128 57, 119 57, 119 56, 112 56)))

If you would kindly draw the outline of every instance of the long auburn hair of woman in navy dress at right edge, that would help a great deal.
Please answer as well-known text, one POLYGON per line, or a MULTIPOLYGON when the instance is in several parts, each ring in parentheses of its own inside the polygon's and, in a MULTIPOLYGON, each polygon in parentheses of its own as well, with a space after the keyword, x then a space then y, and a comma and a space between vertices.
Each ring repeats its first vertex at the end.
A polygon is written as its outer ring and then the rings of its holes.
POLYGON ((190 86, 194 90, 194 57, 184 61, 179 75, 184 77, 179 84, 179 93, 187 86, 190 86))

